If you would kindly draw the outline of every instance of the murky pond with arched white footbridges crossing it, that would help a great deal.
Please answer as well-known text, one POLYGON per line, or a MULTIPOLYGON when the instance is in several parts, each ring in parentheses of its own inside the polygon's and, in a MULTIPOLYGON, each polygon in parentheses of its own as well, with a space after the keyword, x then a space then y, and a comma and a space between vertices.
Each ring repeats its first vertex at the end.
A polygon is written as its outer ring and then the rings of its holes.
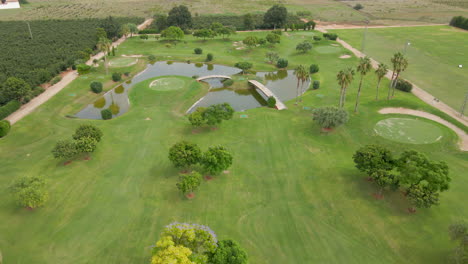
MULTIPOLYGON (((240 69, 224 66, 203 63, 183 63, 183 62, 156 62, 149 64, 148 67, 131 81, 127 81, 111 91, 105 93, 101 98, 97 99, 93 104, 88 105, 75 116, 83 119, 101 119, 101 110, 109 108, 112 111, 113 117, 120 116, 128 111, 130 102, 128 92, 135 84, 148 80, 154 77, 179 75, 179 76, 207 76, 207 75, 227 75, 232 76, 240 73, 240 69)), ((258 72, 256 73, 259 79, 265 80, 265 85, 282 100, 287 101, 296 97, 297 78, 293 71, 277 71, 277 72, 258 72)), ((242 76, 238 79, 242 80, 242 76)), ((201 100, 196 102, 189 111, 195 110, 197 107, 210 106, 218 103, 229 103, 236 111, 243 111, 266 105, 265 96, 258 93, 256 89, 233 90, 224 88, 222 79, 213 78, 207 79, 210 85, 210 92, 201 100)), ((247 78, 245 78, 247 81, 247 78)), ((309 87, 306 83, 304 87, 309 87)))

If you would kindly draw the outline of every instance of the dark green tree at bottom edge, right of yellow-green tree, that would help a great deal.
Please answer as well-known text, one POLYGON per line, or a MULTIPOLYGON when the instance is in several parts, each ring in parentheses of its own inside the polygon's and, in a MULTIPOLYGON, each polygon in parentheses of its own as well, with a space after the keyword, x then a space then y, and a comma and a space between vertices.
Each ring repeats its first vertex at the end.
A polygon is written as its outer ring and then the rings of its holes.
POLYGON ((221 240, 209 257, 210 264, 247 264, 247 253, 233 240, 221 240))

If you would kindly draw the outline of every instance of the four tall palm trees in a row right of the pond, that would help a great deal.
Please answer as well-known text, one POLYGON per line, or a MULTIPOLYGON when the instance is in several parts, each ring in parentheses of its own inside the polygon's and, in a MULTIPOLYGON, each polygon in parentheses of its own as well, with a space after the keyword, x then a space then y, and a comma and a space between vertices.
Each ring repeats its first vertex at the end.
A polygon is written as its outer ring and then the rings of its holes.
MULTIPOLYGON (((406 70, 408 67, 408 60, 405 58, 405 56, 401 52, 397 52, 393 55, 391 59, 392 65, 393 65, 393 73, 392 73, 392 78, 390 82, 390 87, 388 88, 388 96, 387 100, 390 100, 390 98, 394 97, 395 95, 395 87, 398 82, 398 78, 400 77, 400 74, 406 70)), ((356 98, 356 104, 354 106, 354 112, 358 112, 358 107, 359 107, 359 97, 361 95, 361 88, 362 88, 362 83, 364 76, 369 73, 372 70, 372 62, 369 57, 364 57, 359 60, 359 64, 356 68, 356 71, 361 75, 360 81, 359 81, 359 88, 357 92, 357 98, 356 98)), ((377 89, 376 89, 376 95, 375 95, 375 100, 379 99, 379 87, 380 83, 383 79, 383 77, 387 74, 388 72, 388 66, 380 63, 375 70, 375 74, 377 75, 377 89)), ((349 85, 351 82, 354 80, 354 75, 355 71, 353 68, 346 68, 344 70, 341 70, 338 72, 336 75, 338 84, 341 87, 340 90, 340 102, 339 102, 339 107, 343 108, 345 105, 346 101, 346 90, 348 89, 349 85)))

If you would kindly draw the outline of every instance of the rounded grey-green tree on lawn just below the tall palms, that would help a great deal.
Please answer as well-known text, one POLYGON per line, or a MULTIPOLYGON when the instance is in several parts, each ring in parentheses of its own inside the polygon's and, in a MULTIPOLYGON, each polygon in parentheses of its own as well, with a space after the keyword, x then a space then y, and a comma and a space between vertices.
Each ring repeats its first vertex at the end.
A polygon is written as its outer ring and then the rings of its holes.
POLYGON ((313 120, 323 129, 333 129, 346 124, 349 120, 348 112, 334 106, 324 106, 314 110, 313 120))

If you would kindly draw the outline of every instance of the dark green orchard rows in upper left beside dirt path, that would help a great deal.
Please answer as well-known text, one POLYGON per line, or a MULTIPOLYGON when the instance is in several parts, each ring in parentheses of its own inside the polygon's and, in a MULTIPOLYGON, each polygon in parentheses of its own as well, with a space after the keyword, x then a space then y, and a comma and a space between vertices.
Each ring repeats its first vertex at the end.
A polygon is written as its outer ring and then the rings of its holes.
MULTIPOLYGON (((141 18, 115 18, 119 24, 141 23, 141 18)), ((30 21, 34 38, 30 39, 23 21, 0 21, 0 83, 8 77, 25 80, 36 86, 48 82, 79 59, 79 51, 94 49, 96 28, 103 19, 30 21)), ((104 34, 105 31, 104 31, 104 34)), ((106 34, 107 35, 107 34, 106 34)))

